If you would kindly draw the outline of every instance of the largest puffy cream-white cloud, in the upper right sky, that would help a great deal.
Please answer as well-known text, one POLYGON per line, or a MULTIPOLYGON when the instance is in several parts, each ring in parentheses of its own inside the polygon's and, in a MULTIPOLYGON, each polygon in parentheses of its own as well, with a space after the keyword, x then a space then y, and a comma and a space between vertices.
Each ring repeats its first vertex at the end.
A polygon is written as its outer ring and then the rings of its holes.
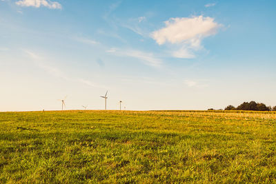
POLYGON ((159 45, 171 43, 180 49, 172 52, 172 56, 180 58, 194 57, 193 51, 201 50, 201 41, 217 33, 221 27, 211 17, 171 18, 165 21, 166 27, 152 32, 152 38, 159 45))

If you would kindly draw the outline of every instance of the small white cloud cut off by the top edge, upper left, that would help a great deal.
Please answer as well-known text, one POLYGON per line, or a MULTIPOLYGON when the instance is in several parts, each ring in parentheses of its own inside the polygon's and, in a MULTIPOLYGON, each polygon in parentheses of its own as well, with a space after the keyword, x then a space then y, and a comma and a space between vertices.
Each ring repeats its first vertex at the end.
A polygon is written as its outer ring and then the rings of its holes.
POLYGON ((39 8, 41 6, 45 6, 50 9, 61 9, 62 6, 57 1, 50 0, 21 0, 17 1, 16 4, 18 6, 33 6, 35 8, 39 8))

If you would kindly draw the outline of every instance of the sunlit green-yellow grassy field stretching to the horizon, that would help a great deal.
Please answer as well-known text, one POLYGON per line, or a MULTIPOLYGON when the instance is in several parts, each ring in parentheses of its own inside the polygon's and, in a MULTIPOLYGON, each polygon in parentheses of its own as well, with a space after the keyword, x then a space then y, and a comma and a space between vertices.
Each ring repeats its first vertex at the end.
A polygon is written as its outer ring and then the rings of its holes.
POLYGON ((276 114, 0 113, 0 183, 276 183, 276 114))

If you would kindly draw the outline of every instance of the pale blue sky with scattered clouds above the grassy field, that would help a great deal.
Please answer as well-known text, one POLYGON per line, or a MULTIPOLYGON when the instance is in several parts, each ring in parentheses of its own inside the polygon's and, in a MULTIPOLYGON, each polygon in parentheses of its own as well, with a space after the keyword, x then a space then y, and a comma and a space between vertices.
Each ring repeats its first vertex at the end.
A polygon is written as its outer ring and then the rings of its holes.
POLYGON ((0 111, 276 105, 276 1, 0 0, 0 111))

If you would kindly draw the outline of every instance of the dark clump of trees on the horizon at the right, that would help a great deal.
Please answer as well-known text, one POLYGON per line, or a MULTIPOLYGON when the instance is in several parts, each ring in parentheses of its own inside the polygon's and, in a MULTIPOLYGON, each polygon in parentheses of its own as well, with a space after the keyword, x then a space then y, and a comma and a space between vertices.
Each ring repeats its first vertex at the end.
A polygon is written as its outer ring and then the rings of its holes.
POLYGON ((244 102, 235 108, 233 105, 228 105, 224 110, 256 110, 256 111, 276 111, 276 106, 266 106, 264 103, 256 103, 255 101, 244 102))

